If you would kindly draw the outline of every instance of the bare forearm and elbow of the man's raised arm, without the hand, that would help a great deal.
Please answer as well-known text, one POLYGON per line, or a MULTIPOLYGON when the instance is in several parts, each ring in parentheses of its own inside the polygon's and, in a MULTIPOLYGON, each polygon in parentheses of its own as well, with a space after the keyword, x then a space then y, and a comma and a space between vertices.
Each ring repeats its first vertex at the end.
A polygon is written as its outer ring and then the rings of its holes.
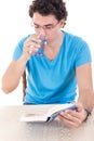
POLYGON ((12 61, 2 77, 2 90, 5 93, 13 91, 19 82, 21 76, 24 73, 26 61, 24 55, 17 60, 12 61))

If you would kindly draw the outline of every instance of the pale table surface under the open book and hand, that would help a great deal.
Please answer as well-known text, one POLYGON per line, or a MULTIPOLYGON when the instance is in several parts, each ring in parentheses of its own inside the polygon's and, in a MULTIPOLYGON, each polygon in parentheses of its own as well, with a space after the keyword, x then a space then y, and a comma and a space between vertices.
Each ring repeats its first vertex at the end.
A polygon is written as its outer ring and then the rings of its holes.
POLYGON ((23 114, 46 112, 51 106, 0 106, 0 141, 94 141, 94 112, 86 123, 76 129, 69 129, 59 120, 21 121, 23 114))

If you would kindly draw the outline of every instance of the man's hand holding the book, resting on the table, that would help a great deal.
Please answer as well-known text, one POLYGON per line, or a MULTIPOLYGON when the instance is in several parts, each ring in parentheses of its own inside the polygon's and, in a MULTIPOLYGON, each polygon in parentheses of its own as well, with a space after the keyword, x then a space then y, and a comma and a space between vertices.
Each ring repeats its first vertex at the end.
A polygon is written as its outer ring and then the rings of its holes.
POLYGON ((88 117, 88 113, 82 104, 76 103, 76 111, 67 110, 58 115, 58 118, 70 128, 79 127, 88 117))

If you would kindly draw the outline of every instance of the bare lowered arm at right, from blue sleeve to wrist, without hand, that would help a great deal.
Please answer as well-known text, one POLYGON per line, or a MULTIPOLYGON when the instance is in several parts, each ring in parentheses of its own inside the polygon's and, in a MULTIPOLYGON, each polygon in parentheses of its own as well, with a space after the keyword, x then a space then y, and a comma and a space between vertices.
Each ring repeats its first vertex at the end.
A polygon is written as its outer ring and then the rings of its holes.
POLYGON ((94 90, 92 79, 91 63, 82 65, 76 69, 79 99, 84 108, 92 111, 94 106, 94 90))

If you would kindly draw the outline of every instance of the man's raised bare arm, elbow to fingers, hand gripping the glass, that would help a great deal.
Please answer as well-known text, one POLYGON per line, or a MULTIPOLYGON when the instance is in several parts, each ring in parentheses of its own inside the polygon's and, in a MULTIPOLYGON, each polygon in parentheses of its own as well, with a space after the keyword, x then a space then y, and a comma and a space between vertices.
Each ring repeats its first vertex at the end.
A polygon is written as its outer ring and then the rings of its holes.
POLYGON ((24 42, 22 56, 17 61, 12 61, 10 63, 6 72, 2 77, 2 90, 5 93, 13 91, 18 86, 27 61, 41 47, 41 44, 36 43, 38 41, 40 42, 40 39, 36 35, 27 38, 27 40, 24 42))

